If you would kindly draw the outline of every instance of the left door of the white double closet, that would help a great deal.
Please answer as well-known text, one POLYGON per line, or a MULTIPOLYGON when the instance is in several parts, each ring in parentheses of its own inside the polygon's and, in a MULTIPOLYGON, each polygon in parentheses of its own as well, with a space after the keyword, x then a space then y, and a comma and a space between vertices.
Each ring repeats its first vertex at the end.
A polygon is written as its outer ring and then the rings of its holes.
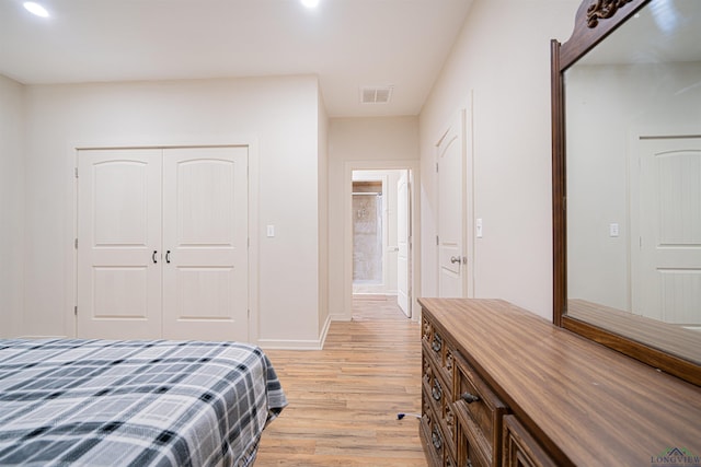
POLYGON ((161 151, 78 153, 79 337, 161 336, 161 151))

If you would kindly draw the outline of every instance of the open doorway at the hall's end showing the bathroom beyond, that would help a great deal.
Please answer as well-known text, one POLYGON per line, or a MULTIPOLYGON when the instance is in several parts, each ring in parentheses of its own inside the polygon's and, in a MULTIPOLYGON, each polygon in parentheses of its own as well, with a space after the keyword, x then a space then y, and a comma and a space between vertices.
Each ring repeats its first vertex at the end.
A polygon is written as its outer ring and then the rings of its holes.
POLYGON ((412 317, 412 170, 350 170, 350 295, 387 297, 412 317))

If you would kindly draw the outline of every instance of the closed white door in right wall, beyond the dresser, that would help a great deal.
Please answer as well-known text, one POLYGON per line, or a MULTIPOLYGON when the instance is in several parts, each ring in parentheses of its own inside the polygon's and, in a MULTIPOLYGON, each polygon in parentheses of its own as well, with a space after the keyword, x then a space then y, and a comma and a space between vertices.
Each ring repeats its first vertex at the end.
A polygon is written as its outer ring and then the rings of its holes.
POLYGON ((437 145, 438 296, 466 296, 463 268, 464 144, 460 114, 437 145))

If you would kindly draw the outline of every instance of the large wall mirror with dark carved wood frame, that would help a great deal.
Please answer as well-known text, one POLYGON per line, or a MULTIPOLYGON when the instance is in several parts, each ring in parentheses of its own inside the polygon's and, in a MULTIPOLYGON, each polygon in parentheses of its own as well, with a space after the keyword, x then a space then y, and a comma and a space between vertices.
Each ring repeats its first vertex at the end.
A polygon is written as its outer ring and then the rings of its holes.
POLYGON ((553 322, 701 385, 701 1, 553 40, 553 322))

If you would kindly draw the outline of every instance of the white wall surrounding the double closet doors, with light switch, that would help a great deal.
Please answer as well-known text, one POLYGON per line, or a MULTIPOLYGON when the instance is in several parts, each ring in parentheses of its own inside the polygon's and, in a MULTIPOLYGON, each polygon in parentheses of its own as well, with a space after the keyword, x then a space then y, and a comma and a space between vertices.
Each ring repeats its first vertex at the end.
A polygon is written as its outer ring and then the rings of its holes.
POLYGON ((315 77, 27 86, 23 332, 71 334, 76 144, 245 137, 258 154, 260 341, 318 345, 318 100, 315 77))

